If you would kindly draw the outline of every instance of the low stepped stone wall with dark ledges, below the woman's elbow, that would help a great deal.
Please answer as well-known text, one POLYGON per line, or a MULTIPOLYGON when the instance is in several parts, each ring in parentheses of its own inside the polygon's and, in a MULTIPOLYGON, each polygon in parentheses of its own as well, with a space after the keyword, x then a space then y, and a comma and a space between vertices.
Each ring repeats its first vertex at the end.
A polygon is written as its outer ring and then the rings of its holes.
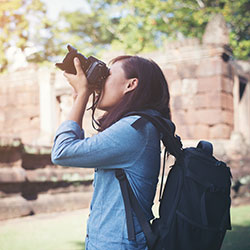
POLYGON ((0 140, 0 220, 89 206, 93 169, 52 166, 50 147, 0 140))

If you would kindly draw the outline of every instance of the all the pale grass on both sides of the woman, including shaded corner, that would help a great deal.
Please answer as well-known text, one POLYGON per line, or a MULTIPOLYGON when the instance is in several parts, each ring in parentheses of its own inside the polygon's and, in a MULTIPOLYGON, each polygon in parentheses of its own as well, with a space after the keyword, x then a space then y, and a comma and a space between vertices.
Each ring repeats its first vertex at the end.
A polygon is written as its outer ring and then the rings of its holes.
MULTIPOLYGON (((250 205, 231 210, 222 250, 250 249, 250 205)), ((0 250, 83 250, 88 210, 0 222, 0 250)))

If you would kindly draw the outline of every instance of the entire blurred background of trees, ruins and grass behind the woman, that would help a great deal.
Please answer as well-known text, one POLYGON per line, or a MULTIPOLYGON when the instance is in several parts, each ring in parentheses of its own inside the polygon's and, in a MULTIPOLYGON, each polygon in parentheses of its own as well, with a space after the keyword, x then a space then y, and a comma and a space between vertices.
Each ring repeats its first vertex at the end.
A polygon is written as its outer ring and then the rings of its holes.
MULTIPOLYGON (((34 228, 48 232, 41 249, 83 249, 79 228, 93 170, 50 161, 56 128, 72 104, 72 89, 54 66, 67 44, 106 63, 137 54, 160 65, 184 146, 209 140, 231 167, 235 230, 225 249, 249 249, 249 10, 248 0, 0 0, 0 249, 34 249, 41 237, 25 246, 21 240, 34 228), (59 213, 74 210, 82 212, 59 213), (50 230, 62 234, 53 241, 50 230)), ((91 111, 84 128, 87 136, 96 133, 91 111)))

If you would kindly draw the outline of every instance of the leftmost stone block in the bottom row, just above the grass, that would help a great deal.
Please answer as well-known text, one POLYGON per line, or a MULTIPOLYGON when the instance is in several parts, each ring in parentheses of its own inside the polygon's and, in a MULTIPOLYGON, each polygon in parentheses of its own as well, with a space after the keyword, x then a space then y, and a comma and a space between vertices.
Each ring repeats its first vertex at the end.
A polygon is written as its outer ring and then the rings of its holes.
POLYGON ((21 196, 0 199, 0 220, 7 220, 30 215, 31 206, 21 196))

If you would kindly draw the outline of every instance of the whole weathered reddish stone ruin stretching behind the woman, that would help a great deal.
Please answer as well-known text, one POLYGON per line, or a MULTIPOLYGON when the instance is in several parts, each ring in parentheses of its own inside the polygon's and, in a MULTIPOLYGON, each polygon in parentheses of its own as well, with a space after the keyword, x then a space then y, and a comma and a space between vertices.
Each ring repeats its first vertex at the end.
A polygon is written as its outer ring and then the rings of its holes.
MULTIPOLYGON (((201 42, 168 42, 141 56, 156 61, 166 76, 184 146, 209 140, 215 156, 231 167, 238 204, 250 195, 250 63, 235 61, 228 44, 217 15, 201 42)), ((110 51, 102 59, 119 54, 110 51)), ((93 170, 50 161, 55 130, 71 104, 71 88, 52 67, 30 64, 0 76, 0 220, 89 206, 93 170)), ((90 111, 83 124, 87 136, 95 133, 90 111)))

